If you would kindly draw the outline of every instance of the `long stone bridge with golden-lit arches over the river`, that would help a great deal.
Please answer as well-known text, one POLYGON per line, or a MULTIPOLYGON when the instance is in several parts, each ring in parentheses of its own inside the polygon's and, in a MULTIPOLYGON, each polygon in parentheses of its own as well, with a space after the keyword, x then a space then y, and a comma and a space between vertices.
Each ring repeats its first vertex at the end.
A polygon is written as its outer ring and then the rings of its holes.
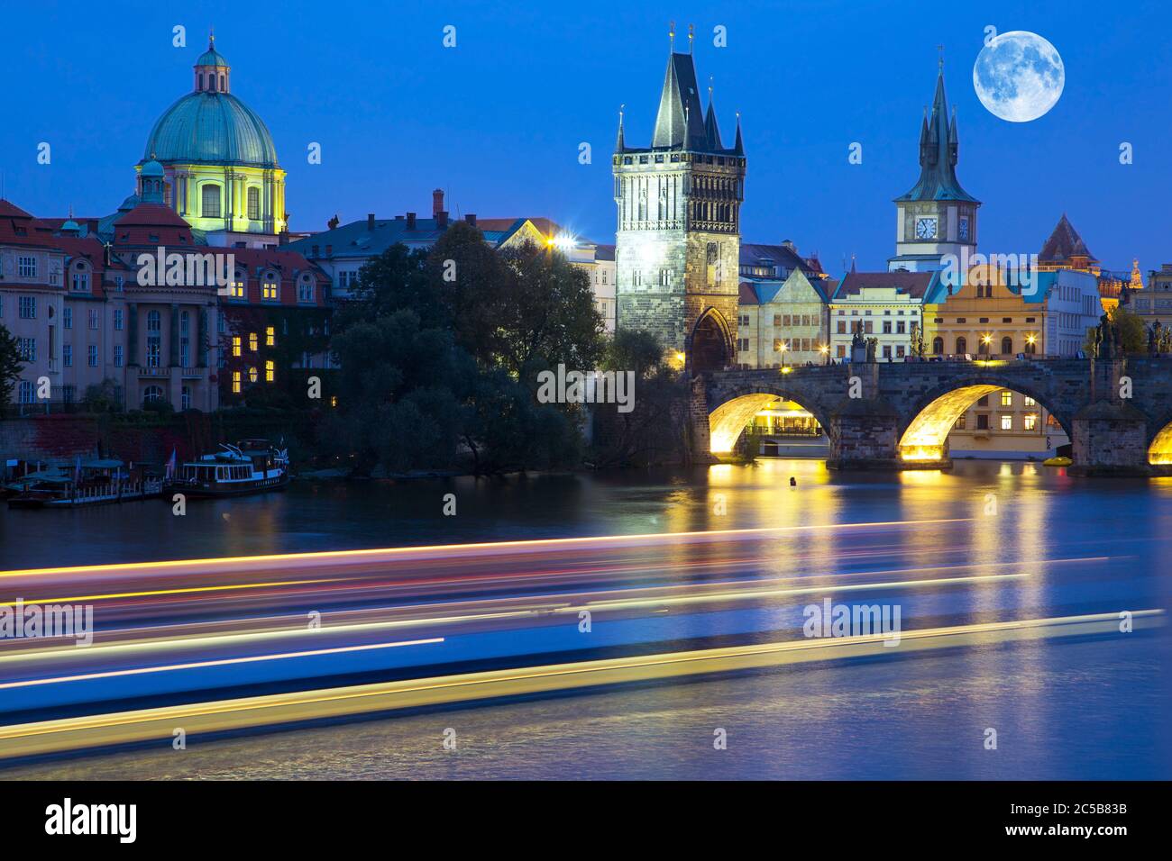
POLYGON ((1172 471, 1167 356, 709 370, 691 381, 693 456, 734 452, 755 412, 788 399, 825 429, 832 469, 946 467, 955 421, 999 389, 1031 397, 1054 416, 1071 440, 1074 474, 1172 471))

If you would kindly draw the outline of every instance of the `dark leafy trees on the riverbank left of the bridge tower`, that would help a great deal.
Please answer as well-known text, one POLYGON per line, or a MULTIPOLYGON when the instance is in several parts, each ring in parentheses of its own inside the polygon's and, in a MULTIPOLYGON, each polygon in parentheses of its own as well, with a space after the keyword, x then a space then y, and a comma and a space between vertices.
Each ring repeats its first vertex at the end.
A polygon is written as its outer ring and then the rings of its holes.
POLYGON ((605 450, 588 447, 584 408, 539 403, 538 375, 633 370, 640 399, 679 385, 649 335, 604 334, 586 273, 564 255, 497 252, 462 223, 430 252, 396 245, 368 262, 334 332, 338 408, 322 439, 355 474, 627 463, 648 430, 638 426, 646 404, 605 450))

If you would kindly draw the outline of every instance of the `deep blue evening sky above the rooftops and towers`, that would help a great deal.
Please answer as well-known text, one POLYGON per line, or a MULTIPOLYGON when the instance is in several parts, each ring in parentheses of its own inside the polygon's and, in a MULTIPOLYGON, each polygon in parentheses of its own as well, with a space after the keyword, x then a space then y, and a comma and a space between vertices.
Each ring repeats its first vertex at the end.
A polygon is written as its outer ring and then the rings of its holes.
MULTIPOLYGON (((1110 268, 1172 260, 1161 205, 1172 14, 1159 2, 875 4, 21 4, 9 37, 0 170, 36 216, 111 212, 156 117, 191 87, 213 25, 232 91, 268 124, 288 171, 293 230, 408 210, 547 216, 614 241, 609 153, 649 143, 667 61, 696 25, 701 84, 715 77, 721 131, 743 117, 749 159, 742 235, 792 239, 832 274, 858 254, 885 268, 894 206, 919 172, 918 136, 945 46, 961 183, 979 199, 981 250, 1037 252, 1065 211, 1110 268), (507 13, 505 13, 507 9, 507 13), (188 28, 186 48, 171 28, 188 28), (445 25, 457 47, 441 45, 445 25), (713 47, 724 25, 728 47, 713 47), (983 29, 1033 30, 1058 49, 1065 90, 1033 123, 989 114, 973 90, 983 29), (13 56, 14 55, 14 56, 13 56), (36 164, 36 145, 53 163, 36 164), (306 146, 322 145, 321 165, 306 146), (578 163, 590 142, 593 164, 578 163), (847 163, 851 142, 861 165, 847 163), (1134 164, 1119 164, 1119 144, 1134 164)), ((684 49, 684 48, 681 48, 684 49)), ((707 101, 707 100, 706 100, 707 101)))

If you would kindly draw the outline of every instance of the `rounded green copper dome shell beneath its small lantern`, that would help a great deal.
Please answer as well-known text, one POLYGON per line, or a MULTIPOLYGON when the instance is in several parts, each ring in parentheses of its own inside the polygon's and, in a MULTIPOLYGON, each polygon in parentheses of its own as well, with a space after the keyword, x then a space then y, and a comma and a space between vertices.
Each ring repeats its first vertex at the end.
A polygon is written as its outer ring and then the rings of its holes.
POLYGON ((151 158, 169 164, 279 166, 264 121, 232 94, 207 90, 189 93, 158 118, 143 150, 143 160, 151 158))

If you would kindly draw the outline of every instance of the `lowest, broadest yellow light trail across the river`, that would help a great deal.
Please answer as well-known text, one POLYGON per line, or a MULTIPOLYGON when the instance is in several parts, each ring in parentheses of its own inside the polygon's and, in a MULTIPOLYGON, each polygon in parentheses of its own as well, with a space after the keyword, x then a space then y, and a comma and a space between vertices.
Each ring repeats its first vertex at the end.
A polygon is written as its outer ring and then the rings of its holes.
MULTIPOLYGON (((1136 627, 1163 623, 1163 610, 1136 610, 1136 627)), ((986 622, 900 633, 898 649, 922 650, 984 645, 1016 640, 1118 633, 1119 616, 1102 613, 1054 619, 986 622)), ((641 655, 509 670, 489 670, 436 678, 275 693, 214 703, 141 709, 113 715, 0 726, 0 758, 28 757, 84 747, 172 739, 176 727, 188 736, 301 720, 396 711, 417 706, 497 697, 597 688, 682 676, 762 669, 810 661, 890 655, 886 635, 830 637, 758 643, 721 649, 641 655)))

